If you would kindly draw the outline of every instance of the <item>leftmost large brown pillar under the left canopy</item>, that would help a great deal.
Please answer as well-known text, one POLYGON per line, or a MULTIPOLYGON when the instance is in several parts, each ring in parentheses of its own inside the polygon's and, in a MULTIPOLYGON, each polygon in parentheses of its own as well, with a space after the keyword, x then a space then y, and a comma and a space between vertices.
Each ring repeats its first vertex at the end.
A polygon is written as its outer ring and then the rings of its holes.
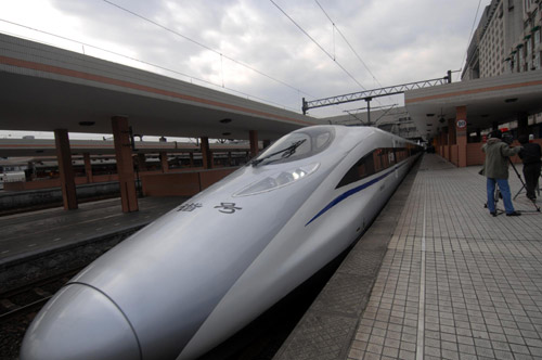
POLYGON ((72 166, 72 151, 69 150, 69 138, 66 129, 54 130, 54 143, 61 173, 64 209, 75 210, 77 208, 77 194, 75 191, 74 167, 72 166))

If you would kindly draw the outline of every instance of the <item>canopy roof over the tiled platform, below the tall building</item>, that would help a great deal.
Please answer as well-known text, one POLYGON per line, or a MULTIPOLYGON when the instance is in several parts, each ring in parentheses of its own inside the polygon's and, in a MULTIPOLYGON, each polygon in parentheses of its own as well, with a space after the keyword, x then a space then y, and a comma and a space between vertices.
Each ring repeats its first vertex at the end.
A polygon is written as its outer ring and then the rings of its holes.
POLYGON ((491 128, 542 112, 542 70, 452 82, 404 93, 404 104, 422 133, 435 136, 466 106, 467 131, 491 128))

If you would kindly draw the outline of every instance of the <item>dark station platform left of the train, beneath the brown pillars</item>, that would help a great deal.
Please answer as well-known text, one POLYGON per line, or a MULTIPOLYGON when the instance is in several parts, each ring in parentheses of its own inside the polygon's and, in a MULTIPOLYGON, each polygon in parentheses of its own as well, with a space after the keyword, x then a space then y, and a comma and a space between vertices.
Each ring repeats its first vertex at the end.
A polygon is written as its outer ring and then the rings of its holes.
POLYGON ((182 204, 186 197, 139 198, 139 211, 124 214, 120 198, 0 217, 0 269, 44 253, 129 233, 182 204))

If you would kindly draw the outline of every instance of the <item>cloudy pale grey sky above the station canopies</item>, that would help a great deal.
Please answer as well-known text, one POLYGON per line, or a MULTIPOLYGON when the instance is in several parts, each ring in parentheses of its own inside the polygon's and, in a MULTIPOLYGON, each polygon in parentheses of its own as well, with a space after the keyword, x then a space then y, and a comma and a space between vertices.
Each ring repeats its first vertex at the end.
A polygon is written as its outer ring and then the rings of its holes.
MULTIPOLYGON (((302 98, 435 79, 449 69, 457 70, 459 81, 473 27, 489 3, 0 0, 0 33, 300 113, 302 98)), ((380 98, 371 106, 402 101, 380 98)), ((364 106, 353 102, 309 115, 345 115, 364 106)), ((0 129, 0 138, 22 134, 0 129)), ((78 138, 88 134, 70 134, 78 138)))

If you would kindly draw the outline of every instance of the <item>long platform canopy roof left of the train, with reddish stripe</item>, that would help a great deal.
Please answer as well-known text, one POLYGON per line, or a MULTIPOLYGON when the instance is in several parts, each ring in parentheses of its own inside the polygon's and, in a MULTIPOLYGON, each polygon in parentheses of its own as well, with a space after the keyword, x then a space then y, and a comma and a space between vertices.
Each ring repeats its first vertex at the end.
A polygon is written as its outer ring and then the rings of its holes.
POLYGON ((0 129, 274 140, 324 121, 224 92, 0 34, 0 129))

